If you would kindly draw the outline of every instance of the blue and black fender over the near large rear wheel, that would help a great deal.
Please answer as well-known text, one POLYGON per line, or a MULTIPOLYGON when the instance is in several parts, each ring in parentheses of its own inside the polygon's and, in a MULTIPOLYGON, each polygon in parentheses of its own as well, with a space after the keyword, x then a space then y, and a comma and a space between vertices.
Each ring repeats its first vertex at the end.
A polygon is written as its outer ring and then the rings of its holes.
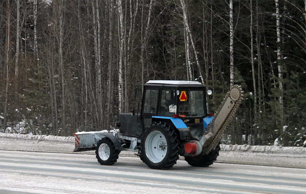
MULTIPOLYGON (((180 118, 173 118, 173 117, 164 117, 164 116, 153 116, 152 120, 155 119, 168 119, 173 124, 173 126, 178 130, 180 133, 181 140, 189 140, 191 138, 191 133, 188 127, 185 125, 184 121, 180 118)), ((151 120, 151 122, 152 122, 151 120)))

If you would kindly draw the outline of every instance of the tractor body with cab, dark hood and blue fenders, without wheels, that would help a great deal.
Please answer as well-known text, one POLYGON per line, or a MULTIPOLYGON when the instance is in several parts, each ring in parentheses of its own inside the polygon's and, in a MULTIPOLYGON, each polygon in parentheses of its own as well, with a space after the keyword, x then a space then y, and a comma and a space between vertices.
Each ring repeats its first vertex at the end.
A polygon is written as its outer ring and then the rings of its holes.
POLYGON ((150 80, 144 84, 138 107, 136 114, 119 114, 121 133, 141 137, 152 123, 163 122, 175 129, 180 139, 199 140, 212 119, 203 123, 207 118, 206 88, 197 81, 150 80))

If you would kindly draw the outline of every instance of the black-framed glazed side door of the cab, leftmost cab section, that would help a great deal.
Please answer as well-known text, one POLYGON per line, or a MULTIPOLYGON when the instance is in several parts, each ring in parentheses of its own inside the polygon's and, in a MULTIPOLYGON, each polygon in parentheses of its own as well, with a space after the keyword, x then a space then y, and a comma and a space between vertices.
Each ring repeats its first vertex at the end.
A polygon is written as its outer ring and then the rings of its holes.
POLYGON ((145 88, 142 103, 141 119, 143 129, 151 125, 152 116, 157 115, 157 104, 159 99, 159 88, 145 88))

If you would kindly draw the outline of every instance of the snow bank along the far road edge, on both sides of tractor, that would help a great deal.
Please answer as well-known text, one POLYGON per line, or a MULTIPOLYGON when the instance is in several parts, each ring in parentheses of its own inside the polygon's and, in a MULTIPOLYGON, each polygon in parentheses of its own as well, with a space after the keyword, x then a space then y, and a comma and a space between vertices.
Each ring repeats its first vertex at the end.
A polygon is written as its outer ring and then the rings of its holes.
MULTIPOLYGON (((279 166, 306 168, 306 148, 274 147, 248 145, 221 145, 217 162, 249 164, 261 166, 279 166)), ((34 151, 51 153, 70 153, 94 155, 94 151, 76 152, 74 137, 39 136, 0 133, 0 150, 34 151)), ((120 156, 130 156, 133 152, 122 151, 120 156)), ((95 159, 95 156, 91 156, 95 159)), ((184 160, 183 157, 180 158, 184 160)))

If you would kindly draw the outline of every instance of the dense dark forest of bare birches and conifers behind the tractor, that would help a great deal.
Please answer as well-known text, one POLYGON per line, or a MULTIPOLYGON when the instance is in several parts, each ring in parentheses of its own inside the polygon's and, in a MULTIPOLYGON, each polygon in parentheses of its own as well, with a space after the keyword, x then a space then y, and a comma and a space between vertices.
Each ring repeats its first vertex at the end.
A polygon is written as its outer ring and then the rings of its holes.
POLYGON ((303 146, 306 0, 2 0, 0 132, 70 136, 135 109, 136 84, 244 100, 226 144, 303 146))

